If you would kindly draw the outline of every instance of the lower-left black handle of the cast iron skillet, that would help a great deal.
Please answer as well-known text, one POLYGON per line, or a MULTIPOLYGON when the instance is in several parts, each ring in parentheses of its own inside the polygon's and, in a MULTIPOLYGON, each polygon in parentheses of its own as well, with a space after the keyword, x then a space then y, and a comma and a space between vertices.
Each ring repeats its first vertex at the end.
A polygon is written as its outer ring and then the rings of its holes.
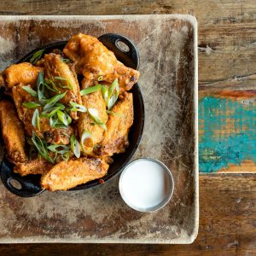
POLYGON ((14 166, 9 162, 9 160, 4 158, 1 164, 0 175, 4 186, 9 189, 10 192, 21 197, 32 197, 44 192, 44 189, 41 189, 40 187, 40 176, 29 175, 21 177, 13 170, 14 166), (14 186, 14 183, 17 185, 14 186), (20 188, 18 188, 18 185, 20 188))

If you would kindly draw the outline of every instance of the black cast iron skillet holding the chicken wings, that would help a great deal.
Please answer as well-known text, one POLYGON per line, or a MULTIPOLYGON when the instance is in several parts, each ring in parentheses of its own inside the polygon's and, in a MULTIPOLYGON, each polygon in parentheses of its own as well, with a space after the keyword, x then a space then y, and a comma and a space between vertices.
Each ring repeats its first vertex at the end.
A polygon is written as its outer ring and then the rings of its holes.
MULTIPOLYGON (((135 69, 139 67, 139 54, 136 46, 131 42, 131 40, 119 34, 112 33, 104 34, 98 39, 108 49, 112 50, 117 59, 123 62, 125 66, 135 69), (126 48, 128 46, 128 50, 120 48, 120 42, 126 44, 126 48)), ((49 53, 53 49, 63 49, 65 44, 67 44, 67 41, 61 41, 54 44, 45 45, 44 47, 42 46, 38 49, 45 49, 44 53, 49 53)), ((25 55, 17 63, 29 61, 32 55, 38 51, 38 49, 32 50, 32 52, 25 55)), ((143 96, 138 84, 134 84, 131 92, 133 94, 134 101, 134 123, 131 126, 131 131, 129 132, 130 145, 128 148, 126 148, 125 153, 113 155, 113 164, 109 166, 108 175, 102 178, 104 182, 117 175, 127 165, 129 160, 131 160, 132 155, 137 150, 143 135, 144 105, 143 96)), ((0 143, 3 145, 3 138, 1 138, 0 143)), ((9 189, 9 191, 21 197, 31 197, 44 192, 44 189, 41 189, 40 187, 40 175, 27 175, 25 177, 21 177, 19 174, 15 173, 13 169, 14 165, 10 163, 6 157, 3 156, 3 161, 0 166, 0 175, 4 186, 9 189), (14 186, 13 180, 15 180, 16 183, 20 183, 20 189, 18 189, 17 186, 14 186)), ((97 185, 99 185, 98 180, 94 180, 89 183, 81 184, 70 190, 90 189, 97 185)))

